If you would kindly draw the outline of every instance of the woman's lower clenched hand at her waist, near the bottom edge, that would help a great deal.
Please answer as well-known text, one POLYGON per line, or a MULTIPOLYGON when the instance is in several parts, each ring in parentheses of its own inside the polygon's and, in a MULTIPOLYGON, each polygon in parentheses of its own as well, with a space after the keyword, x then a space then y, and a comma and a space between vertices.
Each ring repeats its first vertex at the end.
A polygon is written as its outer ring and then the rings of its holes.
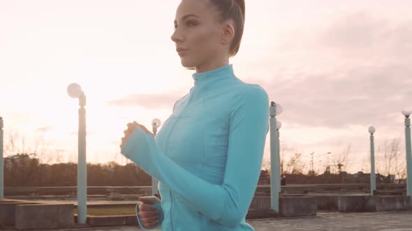
POLYGON ((152 204, 159 201, 156 196, 142 196, 138 198, 142 203, 139 204, 140 221, 145 228, 155 227, 159 223, 159 212, 152 204))

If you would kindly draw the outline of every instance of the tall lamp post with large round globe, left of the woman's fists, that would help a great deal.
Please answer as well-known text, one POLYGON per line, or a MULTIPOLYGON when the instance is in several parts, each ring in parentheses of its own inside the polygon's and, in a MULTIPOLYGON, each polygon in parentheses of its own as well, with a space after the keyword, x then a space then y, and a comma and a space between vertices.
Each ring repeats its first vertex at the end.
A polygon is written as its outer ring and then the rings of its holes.
POLYGON ((86 95, 78 83, 71 83, 67 93, 79 99, 79 133, 78 133, 78 223, 87 221, 87 163, 86 163, 86 95))

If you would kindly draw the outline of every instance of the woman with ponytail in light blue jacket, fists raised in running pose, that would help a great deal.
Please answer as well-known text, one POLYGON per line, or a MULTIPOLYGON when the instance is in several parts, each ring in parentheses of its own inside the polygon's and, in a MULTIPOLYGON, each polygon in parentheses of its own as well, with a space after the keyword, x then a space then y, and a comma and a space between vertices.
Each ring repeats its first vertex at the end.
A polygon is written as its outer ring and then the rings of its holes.
POLYGON ((253 230, 245 222, 269 131, 269 99, 233 72, 244 1, 182 0, 171 39, 184 67, 196 70, 156 135, 129 123, 122 154, 159 180, 161 200, 136 207, 144 229, 253 230))

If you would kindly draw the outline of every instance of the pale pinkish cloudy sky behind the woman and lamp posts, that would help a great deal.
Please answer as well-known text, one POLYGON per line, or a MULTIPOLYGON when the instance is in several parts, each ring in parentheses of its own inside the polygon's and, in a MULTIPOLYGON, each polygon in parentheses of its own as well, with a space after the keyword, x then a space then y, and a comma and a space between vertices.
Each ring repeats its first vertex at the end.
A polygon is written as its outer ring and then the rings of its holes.
MULTIPOLYGON (((126 163, 127 122, 151 129, 193 86, 173 33, 176 0, 0 0, 0 116, 6 155, 77 161, 79 83, 87 95, 87 161, 126 163)), ((348 171, 368 171, 412 109, 412 1, 246 1, 235 74, 281 104, 281 150, 318 170, 350 147, 348 171), (331 152, 331 154, 326 154, 331 152), (379 155, 379 153, 377 153, 379 155), (366 164, 365 164, 366 162, 366 164)), ((269 138, 265 161, 270 158, 269 138)))

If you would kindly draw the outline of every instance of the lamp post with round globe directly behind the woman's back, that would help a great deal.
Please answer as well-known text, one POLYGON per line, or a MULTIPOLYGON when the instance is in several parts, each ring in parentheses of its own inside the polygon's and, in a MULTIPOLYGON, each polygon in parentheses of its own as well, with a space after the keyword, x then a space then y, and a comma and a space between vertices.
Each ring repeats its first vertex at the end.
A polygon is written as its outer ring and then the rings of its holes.
POLYGON ((279 213, 280 163, 276 116, 282 112, 280 104, 270 102, 270 208, 279 213))

